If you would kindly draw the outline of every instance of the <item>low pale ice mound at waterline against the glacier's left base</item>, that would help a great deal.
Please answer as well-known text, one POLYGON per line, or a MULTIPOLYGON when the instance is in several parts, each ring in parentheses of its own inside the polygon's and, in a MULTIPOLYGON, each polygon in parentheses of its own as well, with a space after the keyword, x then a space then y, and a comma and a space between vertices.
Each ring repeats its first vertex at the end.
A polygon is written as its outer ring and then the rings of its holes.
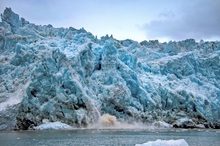
POLYGON ((72 126, 62 122, 48 122, 34 127, 35 130, 60 130, 60 129, 73 129, 72 126))

